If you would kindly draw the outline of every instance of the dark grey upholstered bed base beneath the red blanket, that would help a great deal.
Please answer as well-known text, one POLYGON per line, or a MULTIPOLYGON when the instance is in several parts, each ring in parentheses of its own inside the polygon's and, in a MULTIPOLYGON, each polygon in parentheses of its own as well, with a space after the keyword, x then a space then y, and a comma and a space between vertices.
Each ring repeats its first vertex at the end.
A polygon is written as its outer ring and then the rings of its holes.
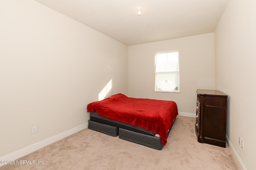
MULTIPOLYGON (((174 119, 175 121, 175 119, 174 119)), ((172 125, 174 124, 174 121, 172 125)), ((172 129, 172 125, 168 131, 168 135, 172 129)), ((111 125, 106 125, 104 123, 99 123, 96 121, 89 120, 88 129, 92 129, 94 131, 98 131, 101 133, 104 133, 106 135, 110 135, 113 137, 116 137, 119 135, 120 139, 124 139, 126 141, 130 141, 133 143, 137 143, 140 145, 144 145, 146 147, 156 149, 156 150, 162 150, 164 145, 161 142, 160 137, 154 137, 151 135, 146 135, 143 133, 138 133, 134 131, 130 131, 128 129, 123 129, 111 125)))

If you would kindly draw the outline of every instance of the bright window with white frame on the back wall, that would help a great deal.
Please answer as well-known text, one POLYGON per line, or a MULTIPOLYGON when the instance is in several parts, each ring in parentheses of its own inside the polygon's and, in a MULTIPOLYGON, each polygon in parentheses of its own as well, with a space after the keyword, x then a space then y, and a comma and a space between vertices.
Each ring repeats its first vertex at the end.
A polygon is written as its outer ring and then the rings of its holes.
POLYGON ((179 51, 155 53, 155 92, 180 92, 179 51))

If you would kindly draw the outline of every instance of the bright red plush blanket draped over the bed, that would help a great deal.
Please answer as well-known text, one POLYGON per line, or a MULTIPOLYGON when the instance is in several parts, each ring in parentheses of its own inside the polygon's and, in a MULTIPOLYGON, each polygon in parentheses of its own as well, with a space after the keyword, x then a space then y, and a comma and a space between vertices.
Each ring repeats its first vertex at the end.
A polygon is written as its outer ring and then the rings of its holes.
POLYGON ((116 94, 102 101, 92 102, 87 106, 88 112, 98 114, 143 127, 160 135, 165 145, 173 120, 178 115, 175 102, 165 100, 128 98, 124 94, 116 94))

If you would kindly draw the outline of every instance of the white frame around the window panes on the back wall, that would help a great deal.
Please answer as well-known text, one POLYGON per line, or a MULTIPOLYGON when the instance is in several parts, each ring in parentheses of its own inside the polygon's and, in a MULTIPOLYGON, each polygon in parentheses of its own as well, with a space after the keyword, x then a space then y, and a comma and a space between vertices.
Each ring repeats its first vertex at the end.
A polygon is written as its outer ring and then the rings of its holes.
MULTIPOLYGON (((167 65, 167 61, 166 61, 166 65, 167 65)), ((155 92, 170 92, 170 93, 180 93, 180 52, 178 51, 178 50, 174 50, 174 51, 162 51, 162 52, 156 52, 155 53, 155 92), (164 54, 164 53, 166 53, 166 55, 167 55, 167 53, 176 53, 176 52, 178 52, 178 70, 176 70, 176 71, 166 71, 166 72, 163 72, 163 71, 161 71, 161 73, 164 73, 164 74, 176 74, 176 76, 178 76, 178 84, 177 84, 177 90, 175 90, 175 88, 174 88, 174 90, 166 90, 166 89, 160 89, 160 88, 158 88, 158 86, 157 86, 157 74, 159 75, 159 73, 160 72, 156 72, 156 64, 157 64, 157 59, 156 59, 156 57, 157 57, 157 55, 158 54, 164 54)), ((167 81, 167 80, 166 80, 167 81)))

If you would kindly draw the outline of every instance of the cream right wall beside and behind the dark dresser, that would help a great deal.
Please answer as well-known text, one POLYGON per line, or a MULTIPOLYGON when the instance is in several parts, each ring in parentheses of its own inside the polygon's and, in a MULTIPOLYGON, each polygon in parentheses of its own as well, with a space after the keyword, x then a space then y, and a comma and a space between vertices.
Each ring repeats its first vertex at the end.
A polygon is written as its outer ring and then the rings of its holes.
POLYGON ((256 169, 255 9, 255 0, 230 0, 215 31, 216 89, 228 95, 226 134, 248 170, 256 169))

